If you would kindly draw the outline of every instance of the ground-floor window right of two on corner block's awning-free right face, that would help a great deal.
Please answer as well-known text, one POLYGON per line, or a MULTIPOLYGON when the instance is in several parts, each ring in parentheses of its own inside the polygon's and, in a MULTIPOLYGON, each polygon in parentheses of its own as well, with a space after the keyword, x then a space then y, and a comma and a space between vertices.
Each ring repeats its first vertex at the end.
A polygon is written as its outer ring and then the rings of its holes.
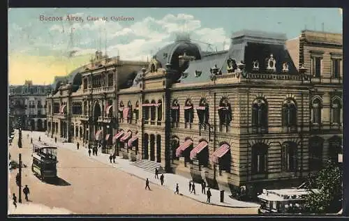
POLYGON ((297 169, 297 144, 295 142, 284 142, 281 151, 283 170, 295 171, 297 169))

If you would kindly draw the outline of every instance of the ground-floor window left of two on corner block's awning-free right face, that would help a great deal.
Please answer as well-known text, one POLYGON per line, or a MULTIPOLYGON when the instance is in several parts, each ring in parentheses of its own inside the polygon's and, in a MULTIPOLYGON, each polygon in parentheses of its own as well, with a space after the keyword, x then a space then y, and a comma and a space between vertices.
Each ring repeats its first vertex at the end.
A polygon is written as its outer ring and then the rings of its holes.
POLYGON ((252 147, 252 172, 255 174, 264 174, 267 172, 267 153, 266 144, 255 144, 252 147))

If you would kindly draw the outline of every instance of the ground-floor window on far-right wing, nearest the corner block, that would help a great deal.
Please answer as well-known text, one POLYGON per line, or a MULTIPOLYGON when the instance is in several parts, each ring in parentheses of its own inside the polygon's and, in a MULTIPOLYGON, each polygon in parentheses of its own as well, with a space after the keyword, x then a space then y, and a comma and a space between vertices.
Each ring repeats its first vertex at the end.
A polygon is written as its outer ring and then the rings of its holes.
POLYGON ((319 170, 322 167, 323 139, 311 137, 309 139, 309 169, 319 170))

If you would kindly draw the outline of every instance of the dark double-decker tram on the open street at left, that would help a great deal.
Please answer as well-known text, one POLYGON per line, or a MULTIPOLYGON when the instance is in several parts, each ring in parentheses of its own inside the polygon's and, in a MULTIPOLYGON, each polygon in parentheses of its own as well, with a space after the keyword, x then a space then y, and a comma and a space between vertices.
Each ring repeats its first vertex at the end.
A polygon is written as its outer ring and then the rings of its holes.
POLYGON ((57 147, 33 142, 31 170, 40 179, 57 178, 57 147))

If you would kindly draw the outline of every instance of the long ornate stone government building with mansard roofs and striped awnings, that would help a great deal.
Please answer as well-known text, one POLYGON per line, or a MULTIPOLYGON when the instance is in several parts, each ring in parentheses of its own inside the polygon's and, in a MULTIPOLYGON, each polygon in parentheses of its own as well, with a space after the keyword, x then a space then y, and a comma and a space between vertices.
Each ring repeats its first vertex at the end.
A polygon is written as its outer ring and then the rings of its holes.
POLYGON ((338 162, 342 57, 342 35, 318 31, 239 31, 218 52, 183 34, 150 62, 97 51, 55 80, 47 134, 232 195, 298 186, 338 162))

